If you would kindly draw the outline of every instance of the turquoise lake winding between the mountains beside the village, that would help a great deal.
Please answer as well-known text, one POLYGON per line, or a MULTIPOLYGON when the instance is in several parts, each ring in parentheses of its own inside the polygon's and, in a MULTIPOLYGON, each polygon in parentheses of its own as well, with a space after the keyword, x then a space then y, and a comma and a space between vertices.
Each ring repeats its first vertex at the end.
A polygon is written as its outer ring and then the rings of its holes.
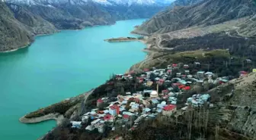
POLYGON ((104 42, 130 34, 144 20, 122 20, 112 26, 65 30, 39 36, 28 48, 0 54, 0 139, 35 140, 50 131, 53 120, 19 123, 30 111, 87 92, 111 73, 125 73, 142 61, 142 42, 104 42))

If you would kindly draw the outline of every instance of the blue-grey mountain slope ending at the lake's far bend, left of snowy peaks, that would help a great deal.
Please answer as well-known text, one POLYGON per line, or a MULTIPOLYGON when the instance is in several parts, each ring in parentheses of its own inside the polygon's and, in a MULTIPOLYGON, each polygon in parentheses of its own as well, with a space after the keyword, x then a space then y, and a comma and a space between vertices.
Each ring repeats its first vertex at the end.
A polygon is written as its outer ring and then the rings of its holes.
POLYGON ((41 17, 49 21, 59 30, 82 29, 85 26, 114 23, 114 19, 111 18, 110 14, 103 11, 94 2, 75 0, 41 2, 34 0, 30 3, 27 1, 8 0, 8 5, 19 5, 33 13, 34 17, 41 17))

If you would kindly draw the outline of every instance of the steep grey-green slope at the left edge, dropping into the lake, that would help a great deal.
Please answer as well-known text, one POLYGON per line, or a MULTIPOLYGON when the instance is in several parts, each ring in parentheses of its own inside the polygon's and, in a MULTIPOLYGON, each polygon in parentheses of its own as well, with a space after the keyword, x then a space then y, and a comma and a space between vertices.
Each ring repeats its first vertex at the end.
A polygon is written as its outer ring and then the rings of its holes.
POLYGON ((0 2, 0 51, 29 45, 33 41, 26 27, 14 18, 5 3, 0 2))

